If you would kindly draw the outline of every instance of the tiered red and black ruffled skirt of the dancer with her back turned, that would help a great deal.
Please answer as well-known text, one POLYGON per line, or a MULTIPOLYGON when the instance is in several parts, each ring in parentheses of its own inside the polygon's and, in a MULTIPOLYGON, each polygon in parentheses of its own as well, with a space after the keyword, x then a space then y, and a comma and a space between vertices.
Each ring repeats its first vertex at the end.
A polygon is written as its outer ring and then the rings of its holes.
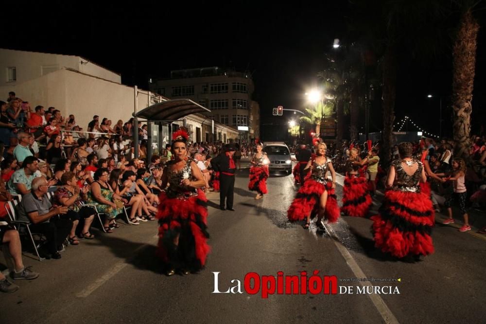
POLYGON ((371 217, 375 246, 399 258, 431 254, 434 217, 427 193, 388 190, 380 214, 371 217))

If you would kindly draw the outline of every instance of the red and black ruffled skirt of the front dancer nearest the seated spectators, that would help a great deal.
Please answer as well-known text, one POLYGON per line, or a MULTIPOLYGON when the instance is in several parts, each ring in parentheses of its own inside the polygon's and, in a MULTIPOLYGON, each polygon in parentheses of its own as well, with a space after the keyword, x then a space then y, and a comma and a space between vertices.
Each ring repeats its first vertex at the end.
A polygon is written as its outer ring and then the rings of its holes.
POLYGON ((204 192, 182 200, 159 195, 157 255, 174 269, 200 270, 210 251, 207 243, 208 199, 204 192), (178 245, 174 238, 179 236, 178 245))

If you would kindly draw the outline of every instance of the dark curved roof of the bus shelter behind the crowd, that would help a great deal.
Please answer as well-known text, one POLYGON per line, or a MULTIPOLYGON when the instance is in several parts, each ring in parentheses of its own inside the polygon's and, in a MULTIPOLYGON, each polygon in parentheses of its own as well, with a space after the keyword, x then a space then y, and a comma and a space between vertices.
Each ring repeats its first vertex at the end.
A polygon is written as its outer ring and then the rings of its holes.
POLYGON ((196 104, 191 99, 173 99, 144 108, 133 116, 154 121, 175 121, 198 112, 211 112, 211 110, 196 104))

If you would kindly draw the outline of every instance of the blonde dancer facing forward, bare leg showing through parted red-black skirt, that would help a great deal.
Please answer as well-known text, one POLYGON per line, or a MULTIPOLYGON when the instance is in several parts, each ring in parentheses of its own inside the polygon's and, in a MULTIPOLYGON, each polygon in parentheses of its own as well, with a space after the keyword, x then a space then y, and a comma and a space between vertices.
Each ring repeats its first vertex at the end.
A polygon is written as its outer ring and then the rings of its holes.
POLYGON ((336 194, 336 173, 332 167, 330 158, 326 157, 326 144, 317 145, 316 156, 309 160, 306 169, 311 170, 311 176, 300 187, 294 201, 287 211, 290 221, 306 219, 305 229, 311 224, 311 217, 317 215, 317 226, 324 230, 322 218, 334 223, 339 218, 339 206, 336 194), (326 178, 330 171, 332 181, 326 178))

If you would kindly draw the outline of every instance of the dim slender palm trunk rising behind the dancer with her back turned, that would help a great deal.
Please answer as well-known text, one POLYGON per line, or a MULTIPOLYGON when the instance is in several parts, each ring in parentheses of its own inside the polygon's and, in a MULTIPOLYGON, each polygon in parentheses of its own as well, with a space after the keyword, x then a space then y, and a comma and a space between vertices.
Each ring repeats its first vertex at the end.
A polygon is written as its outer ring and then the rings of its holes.
POLYGON ((388 38, 388 45, 383 59, 383 145, 382 161, 388 166, 393 146, 393 122, 395 121, 395 97, 397 91, 397 61, 393 36, 388 38))

